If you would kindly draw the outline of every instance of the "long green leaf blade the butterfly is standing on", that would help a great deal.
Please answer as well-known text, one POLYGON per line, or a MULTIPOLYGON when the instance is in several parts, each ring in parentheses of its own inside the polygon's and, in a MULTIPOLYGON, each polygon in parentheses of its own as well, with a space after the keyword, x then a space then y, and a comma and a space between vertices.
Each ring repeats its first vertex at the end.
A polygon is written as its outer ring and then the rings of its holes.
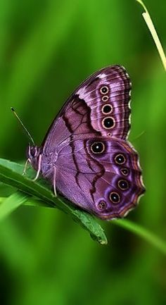
MULTIPOLYGON (((55 197, 51 191, 51 187, 45 180, 39 179, 35 182, 32 181, 32 178, 35 176, 35 172, 31 168, 30 170, 27 170, 27 175, 22 175, 23 168, 24 166, 21 166, 18 163, 0 158, 0 181, 4 182, 6 185, 11 185, 12 187, 19 189, 21 192, 25 192, 26 194, 39 198, 41 201, 44 201, 47 206, 59 208, 63 212, 70 214, 72 219, 79 223, 79 225, 82 225, 82 227, 90 233, 94 240, 100 244, 107 244, 107 238, 103 232, 103 228, 101 228, 101 225, 96 222, 94 216, 91 216, 89 213, 72 206, 67 199, 60 197, 59 195, 58 197, 55 197)), ((19 192, 20 196, 21 192, 19 192)), ((25 194, 22 194, 22 196, 25 198, 25 194)), ((19 201, 21 202, 20 198, 19 201)), ((9 203, 11 206, 11 211, 13 211, 11 201, 9 201, 9 203)), ((24 199, 22 203, 26 204, 24 199)), ((4 202, 2 205, 4 205, 4 202)), ((18 206, 19 205, 20 204, 18 203, 18 206)), ((10 208, 8 208, 8 213, 9 211, 10 208)), ((1 218, 2 217, 0 217, 0 219, 1 218)))

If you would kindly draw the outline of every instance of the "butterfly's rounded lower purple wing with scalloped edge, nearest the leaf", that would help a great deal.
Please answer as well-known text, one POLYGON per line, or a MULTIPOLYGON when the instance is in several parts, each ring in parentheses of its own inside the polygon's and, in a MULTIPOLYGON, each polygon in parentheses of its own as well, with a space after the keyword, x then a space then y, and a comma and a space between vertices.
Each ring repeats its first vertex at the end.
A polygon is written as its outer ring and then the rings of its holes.
POLYGON ((104 219, 125 216, 144 192, 138 154, 115 138, 70 142, 60 149, 57 175, 60 193, 104 219))

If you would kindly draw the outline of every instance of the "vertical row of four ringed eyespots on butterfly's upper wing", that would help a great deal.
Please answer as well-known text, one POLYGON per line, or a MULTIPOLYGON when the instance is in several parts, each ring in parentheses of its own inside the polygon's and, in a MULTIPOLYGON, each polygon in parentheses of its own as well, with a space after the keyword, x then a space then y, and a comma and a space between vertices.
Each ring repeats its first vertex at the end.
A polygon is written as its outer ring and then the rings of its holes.
MULTIPOLYGON (((101 94, 104 94, 102 97, 102 101, 108 101, 109 97, 106 94, 108 94, 109 88, 107 86, 103 86, 101 87, 100 92, 101 94)), ((113 111, 113 106, 111 106, 110 104, 106 104, 102 107, 101 111, 104 114, 109 114, 113 111)), ((112 116, 108 116, 107 118, 103 118, 102 125, 106 129, 113 128, 115 126, 115 120, 112 116)))

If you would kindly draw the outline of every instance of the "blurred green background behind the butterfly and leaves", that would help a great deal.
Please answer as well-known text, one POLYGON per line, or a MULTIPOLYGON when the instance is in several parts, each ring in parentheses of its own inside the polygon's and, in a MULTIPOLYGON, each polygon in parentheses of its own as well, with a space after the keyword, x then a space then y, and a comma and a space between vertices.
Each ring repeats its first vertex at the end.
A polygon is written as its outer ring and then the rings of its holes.
MULTIPOLYGON (((165 47, 165 0, 147 0, 165 47)), ((24 161, 65 99, 95 70, 118 63, 132 78, 132 131, 146 194, 127 216, 166 239, 165 71, 134 0, 0 0, 0 156, 24 161), (138 137, 141 134, 140 137, 138 137)), ((10 193, 1 185, 0 196, 10 193)), ((0 223, 0 304, 166 304, 166 261, 113 222, 108 246, 70 217, 21 207, 0 223)))

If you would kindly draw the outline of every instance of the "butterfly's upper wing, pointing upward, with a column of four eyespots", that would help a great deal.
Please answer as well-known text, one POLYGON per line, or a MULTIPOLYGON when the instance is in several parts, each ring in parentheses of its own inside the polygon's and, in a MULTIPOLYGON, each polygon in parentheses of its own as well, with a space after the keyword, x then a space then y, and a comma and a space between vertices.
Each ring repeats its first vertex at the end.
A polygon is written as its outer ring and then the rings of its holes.
POLYGON ((103 68, 91 75, 73 92, 53 120, 42 143, 44 151, 52 151, 65 140, 66 125, 70 126, 72 134, 94 131, 96 135, 126 139, 130 128, 131 88, 129 75, 122 66, 103 68))

